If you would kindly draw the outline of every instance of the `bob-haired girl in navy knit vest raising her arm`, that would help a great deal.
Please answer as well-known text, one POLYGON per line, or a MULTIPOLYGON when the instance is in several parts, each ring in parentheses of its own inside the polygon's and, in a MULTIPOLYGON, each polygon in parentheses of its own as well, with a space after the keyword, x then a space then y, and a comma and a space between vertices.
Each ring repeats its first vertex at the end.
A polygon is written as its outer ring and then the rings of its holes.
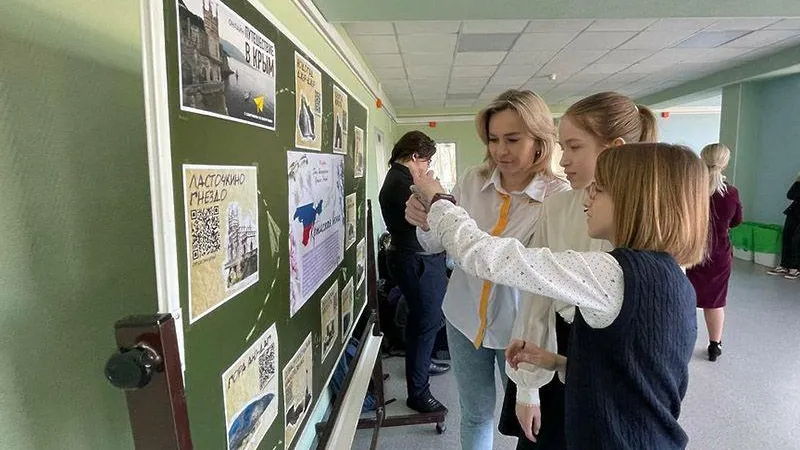
MULTIPOLYGON (((525 248, 479 230, 429 176, 415 178, 427 225, 466 272, 577 306, 568 358, 530 343, 527 362, 566 371, 570 449, 682 449, 678 425, 697 337, 695 292, 681 267, 708 237, 708 172, 688 148, 628 144, 598 158, 588 188, 589 235, 610 253, 525 248), (448 201, 450 200, 450 201, 448 201)), ((407 210, 415 225, 419 216, 407 210)))

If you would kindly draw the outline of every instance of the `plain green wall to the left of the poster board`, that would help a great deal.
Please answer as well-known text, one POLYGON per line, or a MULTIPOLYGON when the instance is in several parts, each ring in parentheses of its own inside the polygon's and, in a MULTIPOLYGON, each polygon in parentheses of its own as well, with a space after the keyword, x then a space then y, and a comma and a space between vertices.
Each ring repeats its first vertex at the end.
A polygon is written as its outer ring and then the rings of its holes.
POLYGON ((17 5, 4 16, 0 447, 131 448, 103 366, 114 321, 157 309, 142 83, 129 69, 139 60, 70 52, 78 31, 65 23, 56 48, 40 43, 38 23, 27 22, 30 39, 9 35, 8 22, 36 14, 17 5))

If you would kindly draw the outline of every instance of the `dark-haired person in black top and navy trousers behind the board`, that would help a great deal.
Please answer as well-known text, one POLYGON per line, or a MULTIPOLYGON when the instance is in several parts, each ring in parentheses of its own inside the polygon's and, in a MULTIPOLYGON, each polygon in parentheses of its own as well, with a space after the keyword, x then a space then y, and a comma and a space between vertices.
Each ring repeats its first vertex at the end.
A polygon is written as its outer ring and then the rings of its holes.
POLYGON ((409 408, 422 412, 446 411, 430 391, 430 376, 450 370, 431 360, 436 335, 442 328, 442 301, 447 289, 444 253, 426 253, 416 227, 406 221, 406 201, 414 176, 426 173, 436 143, 421 131, 409 131, 394 145, 389 171, 378 197, 391 244, 386 253, 389 274, 400 287, 408 307, 405 329, 406 387, 409 408))

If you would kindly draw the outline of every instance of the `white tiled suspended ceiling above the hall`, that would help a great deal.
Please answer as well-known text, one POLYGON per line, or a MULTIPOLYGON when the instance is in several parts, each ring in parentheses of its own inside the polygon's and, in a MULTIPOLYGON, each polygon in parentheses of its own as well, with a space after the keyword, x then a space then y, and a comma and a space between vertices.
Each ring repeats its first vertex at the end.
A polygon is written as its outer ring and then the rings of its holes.
POLYGON ((473 107, 509 88, 533 90, 551 104, 604 90, 639 97, 800 45, 800 18, 343 26, 400 110, 473 107))

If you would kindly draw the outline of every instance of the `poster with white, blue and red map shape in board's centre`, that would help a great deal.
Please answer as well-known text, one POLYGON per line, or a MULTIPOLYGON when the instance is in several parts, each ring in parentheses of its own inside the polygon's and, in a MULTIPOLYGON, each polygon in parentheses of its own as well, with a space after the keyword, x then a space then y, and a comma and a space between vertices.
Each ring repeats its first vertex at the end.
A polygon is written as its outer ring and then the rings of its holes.
POLYGON ((344 259, 344 157, 288 152, 292 317, 344 259))

